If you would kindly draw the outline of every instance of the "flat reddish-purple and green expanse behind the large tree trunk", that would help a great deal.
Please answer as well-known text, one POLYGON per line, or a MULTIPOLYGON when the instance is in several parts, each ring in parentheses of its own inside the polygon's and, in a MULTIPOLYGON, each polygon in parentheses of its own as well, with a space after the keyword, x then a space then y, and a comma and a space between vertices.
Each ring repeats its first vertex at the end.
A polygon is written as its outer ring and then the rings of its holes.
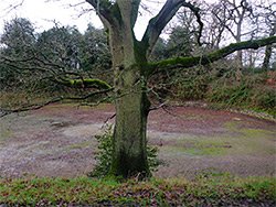
MULTIPOLYGON (((112 105, 52 105, 0 119, 0 176, 77 176, 95 166, 95 134, 112 105)), ((276 175, 276 126, 230 111, 179 107, 151 111, 148 138, 168 166, 155 176, 190 177, 215 168, 238 176, 276 175), (176 116, 173 116, 176 115, 176 116)), ((114 120, 112 120, 114 122, 114 120)))

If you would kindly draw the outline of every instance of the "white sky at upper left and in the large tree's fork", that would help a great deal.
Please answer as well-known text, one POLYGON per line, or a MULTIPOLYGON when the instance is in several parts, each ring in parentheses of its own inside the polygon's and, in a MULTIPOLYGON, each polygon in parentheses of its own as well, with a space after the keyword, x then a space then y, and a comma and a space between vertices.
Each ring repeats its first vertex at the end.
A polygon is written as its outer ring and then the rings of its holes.
MULTIPOLYGON (((2 33, 4 21, 10 21, 15 17, 29 19, 36 26, 36 32, 53 28, 53 21, 60 23, 60 25, 76 25, 81 32, 86 30, 88 23, 92 23, 95 28, 102 28, 102 23, 95 12, 88 12, 78 17, 82 8, 92 8, 88 3, 85 2, 74 8, 68 7, 68 4, 75 4, 82 1, 84 0, 0 0, 0 34, 2 33), (10 9, 10 7, 19 4, 22 1, 24 1, 22 6, 17 9, 10 9)), ((214 2, 216 0, 208 1, 214 2)), ((161 6, 162 3, 155 3, 153 12, 157 13, 161 6)), ((149 13, 139 17, 138 26, 135 28, 138 39, 142 36, 148 20, 151 17, 152 14, 149 13)))

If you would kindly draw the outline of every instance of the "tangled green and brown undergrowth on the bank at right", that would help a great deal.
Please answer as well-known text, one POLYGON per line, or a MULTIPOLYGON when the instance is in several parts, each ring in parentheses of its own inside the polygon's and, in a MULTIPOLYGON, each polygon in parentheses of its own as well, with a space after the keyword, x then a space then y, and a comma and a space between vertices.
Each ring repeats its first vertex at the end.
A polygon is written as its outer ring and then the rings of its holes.
POLYGON ((241 81, 236 81, 233 74, 229 73, 220 77, 204 74, 190 79, 182 78, 183 81, 179 81, 176 91, 172 91, 180 101, 204 100, 219 108, 251 109, 276 117, 276 85, 269 81, 272 77, 266 73, 244 75, 241 81))

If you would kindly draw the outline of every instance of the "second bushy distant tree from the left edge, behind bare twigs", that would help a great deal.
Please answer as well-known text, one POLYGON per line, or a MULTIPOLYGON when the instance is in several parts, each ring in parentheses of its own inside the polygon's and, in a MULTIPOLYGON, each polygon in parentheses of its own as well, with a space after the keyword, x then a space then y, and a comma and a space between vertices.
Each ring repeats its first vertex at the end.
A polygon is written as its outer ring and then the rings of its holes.
MULTIPOLYGON (((50 80, 82 75, 78 57, 82 34, 75 28, 54 26, 39 34, 35 47, 36 67, 50 80), (79 75, 78 75, 79 73, 79 75)), ((78 78, 78 77, 77 77, 78 78)))

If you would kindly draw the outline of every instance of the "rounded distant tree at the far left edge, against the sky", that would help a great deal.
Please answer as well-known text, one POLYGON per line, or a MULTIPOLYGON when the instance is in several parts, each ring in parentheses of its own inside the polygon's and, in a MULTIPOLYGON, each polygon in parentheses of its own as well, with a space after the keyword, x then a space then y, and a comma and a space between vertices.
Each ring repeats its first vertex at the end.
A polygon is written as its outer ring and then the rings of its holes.
POLYGON ((0 44, 2 45, 0 48, 0 79, 3 83, 15 84, 25 77, 23 69, 19 67, 19 63, 14 61, 29 58, 33 53, 34 43, 34 28, 28 19, 15 18, 4 23, 3 34, 0 37, 0 44))

